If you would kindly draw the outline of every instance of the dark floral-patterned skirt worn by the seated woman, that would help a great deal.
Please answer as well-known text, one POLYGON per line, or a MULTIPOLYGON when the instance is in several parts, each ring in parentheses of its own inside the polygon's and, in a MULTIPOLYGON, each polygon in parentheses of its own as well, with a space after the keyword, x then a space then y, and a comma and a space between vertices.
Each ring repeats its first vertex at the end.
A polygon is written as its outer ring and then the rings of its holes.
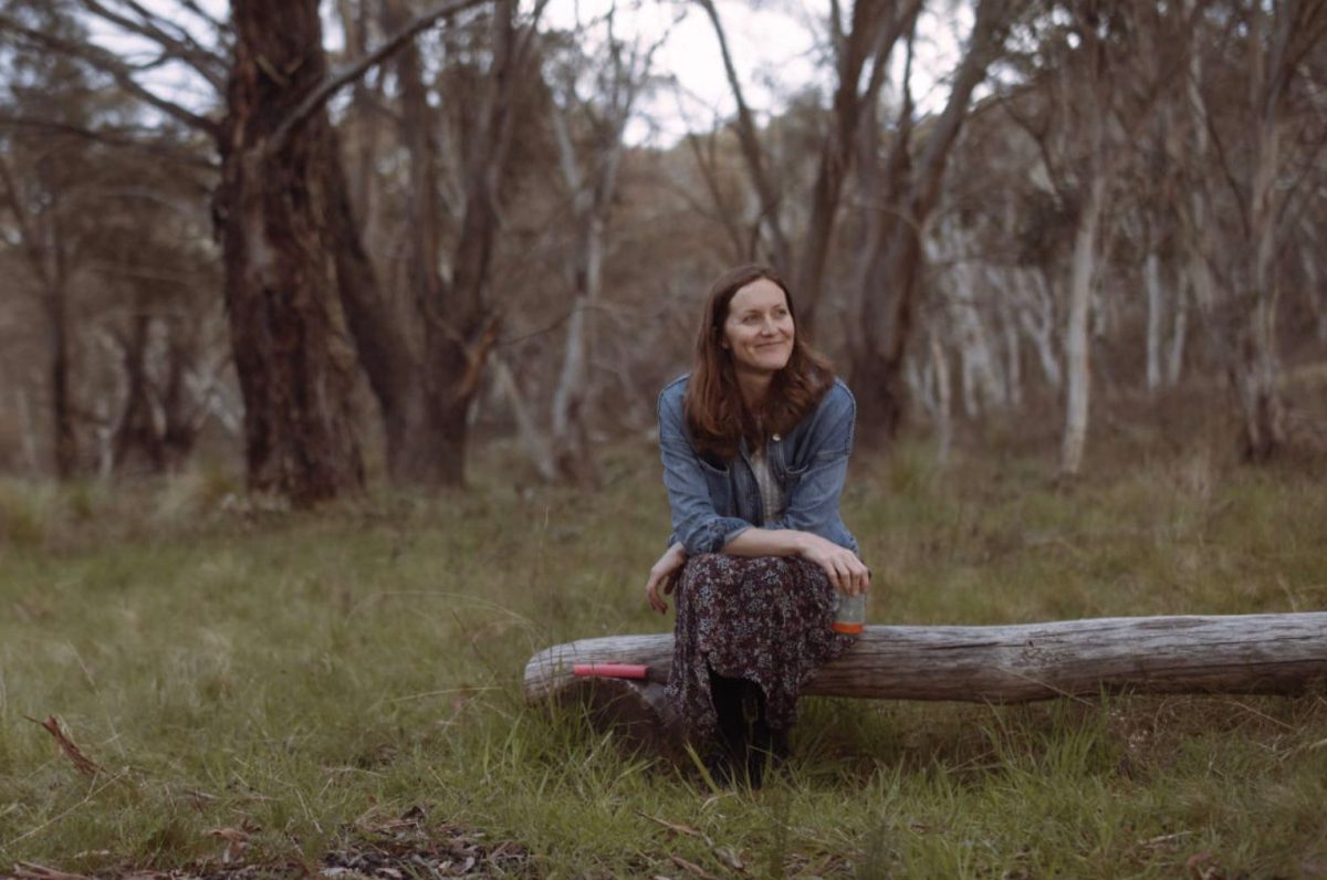
POLYGON ((764 692, 770 729, 791 727, 802 685, 855 641, 829 628, 833 607, 829 579, 799 556, 703 553, 689 559, 677 585, 666 690, 687 734, 714 737, 711 670, 754 682, 764 692))

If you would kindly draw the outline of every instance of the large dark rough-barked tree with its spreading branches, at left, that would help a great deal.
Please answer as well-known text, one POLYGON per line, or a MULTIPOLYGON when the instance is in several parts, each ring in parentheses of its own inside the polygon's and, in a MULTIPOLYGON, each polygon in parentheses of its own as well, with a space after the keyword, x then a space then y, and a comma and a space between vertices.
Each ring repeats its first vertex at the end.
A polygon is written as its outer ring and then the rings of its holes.
MULTIPOLYGON (((356 352, 348 319, 358 317, 354 307, 378 300, 326 102, 425 28, 482 0, 435 4, 338 69, 330 69, 324 52, 317 0, 234 0, 226 20, 190 0, 174 1, 179 20, 134 0, 77 3, 84 13, 151 45, 158 56, 146 64, 12 17, 0 25, 28 45, 77 60, 212 142, 220 159, 212 212, 244 398, 248 484, 297 504, 357 490, 364 465, 350 400, 356 352), (174 100, 155 85, 150 72, 165 64, 187 69, 211 89, 211 106, 174 100)), ((462 271, 474 272, 484 259, 475 255, 462 271)), ((365 324, 354 336, 361 353, 365 324)), ((445 358, 443 376, 463 388, 474 372, 471 354, 445 358)))

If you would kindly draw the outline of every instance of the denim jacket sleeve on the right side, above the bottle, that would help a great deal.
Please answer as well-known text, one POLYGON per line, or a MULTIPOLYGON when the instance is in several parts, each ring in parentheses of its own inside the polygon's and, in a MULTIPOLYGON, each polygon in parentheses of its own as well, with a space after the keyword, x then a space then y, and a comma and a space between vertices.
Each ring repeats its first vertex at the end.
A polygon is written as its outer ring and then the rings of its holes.
POLYGON ((817 407, 807 438, 809 454, 805 467, 791 480, 788 506, 771 528, 795 528, 812 532, 827 540, 840 540, 839 503, 848 477, 848 455, 852 453, 857 403, 852 393, 836 384, 817 407))

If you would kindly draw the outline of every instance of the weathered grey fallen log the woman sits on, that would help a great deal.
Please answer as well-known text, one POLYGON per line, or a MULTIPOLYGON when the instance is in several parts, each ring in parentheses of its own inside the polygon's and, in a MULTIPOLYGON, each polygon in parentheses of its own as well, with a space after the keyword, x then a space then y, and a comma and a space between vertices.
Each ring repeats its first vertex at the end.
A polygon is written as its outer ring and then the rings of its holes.
MULTIPOLYGON (((556 645, 525 665, 525 698, 541 702, 585 688, 572 677, 573 662, 645 664, 648 682, 658 685, 667 681, 671 660, 670 634, 556 645)), ((1014 703, 1103 692, 1292 696, 1323 686, 1327 612, 868 626, 802 693, 1014 703)))

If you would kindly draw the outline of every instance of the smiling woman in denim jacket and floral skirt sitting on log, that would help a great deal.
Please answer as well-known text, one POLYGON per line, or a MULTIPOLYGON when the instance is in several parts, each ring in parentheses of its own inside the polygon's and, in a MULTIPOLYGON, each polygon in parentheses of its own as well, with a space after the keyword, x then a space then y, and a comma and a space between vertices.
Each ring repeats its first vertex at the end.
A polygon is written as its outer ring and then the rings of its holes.
POLYGON ((835 591, 871 587, 839 515, 856 403, 798 333, 787 285, 743 265, 710 288, 691 373, 658 413, 673 538, 645 592, 664 613, 677 589, 667 694, 693 739, 718 734, 711 771, 759 784, 799 686, 852 644, 831 629, 835 591))

